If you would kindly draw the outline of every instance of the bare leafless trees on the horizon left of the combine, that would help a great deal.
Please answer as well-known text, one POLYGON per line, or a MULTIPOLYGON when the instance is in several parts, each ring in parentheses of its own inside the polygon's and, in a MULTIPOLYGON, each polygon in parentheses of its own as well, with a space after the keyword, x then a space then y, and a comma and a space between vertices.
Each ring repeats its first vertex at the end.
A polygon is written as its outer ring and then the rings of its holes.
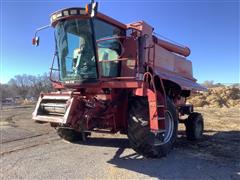
POLYGON ((16 75, 6 84, 0 84, 1 99, 5 98, 37 98, 41 92, 52 91, 48 74, 43 75, 16 75))

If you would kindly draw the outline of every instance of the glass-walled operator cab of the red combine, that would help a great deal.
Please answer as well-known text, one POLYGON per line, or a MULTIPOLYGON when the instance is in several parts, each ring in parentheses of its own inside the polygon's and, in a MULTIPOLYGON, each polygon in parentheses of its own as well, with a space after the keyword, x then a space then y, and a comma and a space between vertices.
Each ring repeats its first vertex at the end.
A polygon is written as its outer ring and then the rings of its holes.
POLYGON ((121 62, 117 60, 124 51, 124 28, 90 17, 84 8, 60 10, 52 14, 51 22, 61 82, 96 82, 99 76, 120 76, 121 62))

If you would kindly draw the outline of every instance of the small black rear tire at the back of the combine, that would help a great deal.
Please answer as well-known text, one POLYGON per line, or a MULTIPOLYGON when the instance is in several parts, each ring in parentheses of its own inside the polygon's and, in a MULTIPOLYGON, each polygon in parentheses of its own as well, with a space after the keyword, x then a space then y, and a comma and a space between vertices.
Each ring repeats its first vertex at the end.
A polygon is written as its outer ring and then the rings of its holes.
POLYGON ((203 136, 204 122, 200 113, 193 112, 185 122, 186 135, 188 140, 199 140, 203 136))

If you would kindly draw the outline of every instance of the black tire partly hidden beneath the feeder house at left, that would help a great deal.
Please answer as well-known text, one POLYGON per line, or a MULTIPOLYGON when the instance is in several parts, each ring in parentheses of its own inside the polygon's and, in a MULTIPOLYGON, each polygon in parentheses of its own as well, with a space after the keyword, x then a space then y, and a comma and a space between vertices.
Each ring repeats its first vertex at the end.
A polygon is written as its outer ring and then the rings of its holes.
POLYGON ((69 142, 76 142, 76 141, 83 141, 90 135, 89 132, 84 132, 84 138, 82 133, 75 131, 74 129, 58 127, 57 128, 58 135, 66 141, 69 142))

